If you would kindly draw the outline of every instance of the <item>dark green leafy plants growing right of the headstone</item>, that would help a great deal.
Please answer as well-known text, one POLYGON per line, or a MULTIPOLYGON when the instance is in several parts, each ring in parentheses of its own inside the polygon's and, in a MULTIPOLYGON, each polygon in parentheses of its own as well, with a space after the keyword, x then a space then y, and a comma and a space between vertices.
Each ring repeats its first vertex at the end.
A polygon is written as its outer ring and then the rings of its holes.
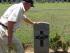
POLYGON ((50 38, 50 48, 57 51, 59 48, 62 48, 63 51, 67 51, 70 46, 70 41, 66 41, 64 37, 56 33, 54 38, 50 38))

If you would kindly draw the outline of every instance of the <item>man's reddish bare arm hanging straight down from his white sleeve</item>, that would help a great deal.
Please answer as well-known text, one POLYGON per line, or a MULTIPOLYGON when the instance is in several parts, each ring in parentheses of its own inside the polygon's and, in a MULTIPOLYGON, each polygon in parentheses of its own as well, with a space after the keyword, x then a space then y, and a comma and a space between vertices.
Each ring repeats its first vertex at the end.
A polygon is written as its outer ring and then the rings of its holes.
POLYGON ((11 47, 15 22, 8 21, 8 45, 11 47))

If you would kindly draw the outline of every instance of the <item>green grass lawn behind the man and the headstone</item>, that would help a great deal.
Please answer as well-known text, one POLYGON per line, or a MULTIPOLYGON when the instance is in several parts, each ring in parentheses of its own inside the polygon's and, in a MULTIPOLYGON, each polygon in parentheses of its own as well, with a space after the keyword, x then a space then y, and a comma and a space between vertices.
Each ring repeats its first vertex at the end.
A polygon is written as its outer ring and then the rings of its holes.
MULTIPOLYGON (((10 5, 0 4, 0 15, 10 5)), ((50 37, 54 37, 58 33, 65 40, 70 40, 70 3, 35 3, 35 7, 26 14, 33 21, 49 22, 50 37)), ((22 42, 33 42, 32 25, 23 23, 15 34, 22 42)))

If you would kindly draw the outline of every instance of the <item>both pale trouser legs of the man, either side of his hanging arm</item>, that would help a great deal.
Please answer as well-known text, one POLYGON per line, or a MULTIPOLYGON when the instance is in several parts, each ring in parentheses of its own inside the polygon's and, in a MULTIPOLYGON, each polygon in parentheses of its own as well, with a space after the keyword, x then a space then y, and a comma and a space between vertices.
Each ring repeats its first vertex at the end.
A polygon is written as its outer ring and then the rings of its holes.
MULTIPOLYGON (((8 37, 5 35, 5 31, 2 26, 0 26, 0 46, 2 53, 7 53, 8 51, 8 37)), ((24 53, 24 48, 22 43, 13 35, 13 45, 15 45, 16 53, 24 53)))

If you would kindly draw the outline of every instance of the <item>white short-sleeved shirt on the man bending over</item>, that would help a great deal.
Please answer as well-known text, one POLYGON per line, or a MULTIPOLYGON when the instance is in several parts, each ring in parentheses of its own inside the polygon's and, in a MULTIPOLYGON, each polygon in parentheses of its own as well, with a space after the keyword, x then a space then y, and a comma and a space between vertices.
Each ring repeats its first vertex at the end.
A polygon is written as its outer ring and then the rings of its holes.
POLYGON ((7 26, 8 21, 16 22, 14 26, 14 30, 20 26, 20 21, 26 18, 23 15, 25 12, 25 8, 23 3, 18 3, 10 6, 5 13, 1 16, 0 22, 7 26))

